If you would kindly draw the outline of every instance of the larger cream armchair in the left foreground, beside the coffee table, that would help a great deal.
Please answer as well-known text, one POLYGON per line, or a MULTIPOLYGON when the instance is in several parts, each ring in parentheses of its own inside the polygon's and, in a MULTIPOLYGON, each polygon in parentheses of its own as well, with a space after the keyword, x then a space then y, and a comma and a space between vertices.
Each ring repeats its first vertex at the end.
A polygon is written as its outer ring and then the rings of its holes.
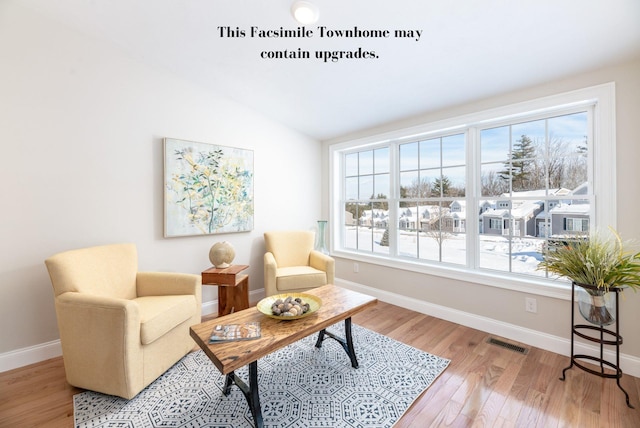
POLYGON ((193 350, 200 275, 138 272, 134 244, 66 251, 45 264, 71 385, 131 399, 193 350))

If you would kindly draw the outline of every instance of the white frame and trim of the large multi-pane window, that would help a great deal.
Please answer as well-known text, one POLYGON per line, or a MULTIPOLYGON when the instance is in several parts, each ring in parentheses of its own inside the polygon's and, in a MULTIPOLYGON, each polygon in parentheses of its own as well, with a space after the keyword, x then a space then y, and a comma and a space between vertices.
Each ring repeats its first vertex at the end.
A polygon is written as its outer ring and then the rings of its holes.
MULTIPOLYGON (((473 177, 479 162, 478 146, 475 141, 477 132, 470 132, 487 124, 501 123, 528 119, 537 114, 550 115, 564 111, 574 110, 577 107, 592 106, 592 129, 591 141, 593 142, 589 150, 589 162, 592 165, 589 176, 589 186, 593 189, 593 194, 597 200, 595 207, 592 205, 590 228, 605 230, 608 227, 616 228, 616 129, 615 129, 615 84, 613 82, 588 88, 578 89, 571 92, 551 95, 517 104, 506 105, 490 110, 454 117, 432 123, 426 123, 411 128, 398 129, 382 134, 368 137, 337 142, 329 145, 329 200, 330 216, 329 220, 336 227, 331 228, 330 250, 336 257, 357 260, 377 265, 388 266, 396 269, 403 269, 414 272, 421 272, 429 275, 443 276, 488 286, 517 290, 521 292, 545 295, 556 298, 570 299, 570 286, 567 281, 550 280, 545 278, 525 278, 508 272, 485 272, 466 267, 451 267, 446 265, 424 264, 421 260, 400 260, 390 258, 384 254, 363 253, 358 251, 345 250, 336 246, 342 241, 342 227, 344 224, 344 213, 341 208, 341 185, 342 179, 340 170, 341 156, 345 151, 365 150, 379 147, 389 143, 402 143, 416 138, 422 138, 433 134, 444 132, 467 132, 467 159, 470 166, 467 169, 468 178, 473 177)), ((397 162, 392 153, 391 162, 397 162)), ((395 189, 397 183, 394 174, 391 177, 391 188, 395 189)), ((473 183, 472 180, 467 180, 473 183)), ((393 191, 393 190, 392 190, 393 191)), ((469 202, 467 202, 469 204, 469 202)), ((468 205, 473 206, 473 205, 468 205)), ((391 211, 393 212, 393 210, 391 211)), ((389 222, 396 224, 395 214, 391 214, 389 222), (395 223, 394 223, 395 222, 395 223)), ((475 223, 474 223, 475 224, 475 223)), ((487 226, 487 225, 485 225, 487 226)), ((478 239, 477 228, 467 228, 467 233, 473 242, 478 239)), ((389 234, 390 241, 394 240, 393 234, 389 234)), ((391 242, 393 245, 393 242, 391 242)), ((473 261, 476 254, 475 248, 468 249, 469 257, 473 261)), ((472 266, 475 263, 471 264, 472 266)))

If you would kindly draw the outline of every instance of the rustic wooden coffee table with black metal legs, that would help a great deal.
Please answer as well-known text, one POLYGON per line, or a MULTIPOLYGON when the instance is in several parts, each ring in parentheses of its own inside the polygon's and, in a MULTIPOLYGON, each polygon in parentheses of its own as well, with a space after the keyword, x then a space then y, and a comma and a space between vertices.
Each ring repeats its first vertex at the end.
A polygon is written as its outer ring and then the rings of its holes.
POLYGON ((351 365, 358 368, 358 360, 351 337, 351 316, 375 305, 377 299, 335 285, 314 288, 306 293, 319 297, 322 300, 322 305, 315 313, 304 318, 297 320, 274 319, 253 307, 191 327, 191 337, 218 370, 226 375, 224 394, 229 394, 234 383, 240 388, 249 403, 256 427, 263 426, 258 392, 258 360, 265 355, 311 334, 319 333, 315 345, 317 348, 322 346, 322 342, 326 338, 335 339, 346 351, 351 365), (261 338, 209 344, 209 336, 216 325, 241 324, 252 321, 260 322, 261 338), (339 321, 345 322, 344 338, 337 337, 325 330, 339 321), (249 366, 249 385, 235 374, 235 370, 246 365, 249 366))

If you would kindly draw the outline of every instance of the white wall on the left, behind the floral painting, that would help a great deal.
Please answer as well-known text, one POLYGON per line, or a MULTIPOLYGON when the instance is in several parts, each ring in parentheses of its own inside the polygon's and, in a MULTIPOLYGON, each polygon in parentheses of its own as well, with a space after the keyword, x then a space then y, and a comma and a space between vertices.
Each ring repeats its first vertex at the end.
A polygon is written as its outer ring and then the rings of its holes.
POLYGON ((262 233, 319 218, 315 140, 13 3, 0 62, 0 362, 58 339, 43 263, 56 252, 134 242, 140 270, 199 274, 227 240, 256 291, 262 233), (162 237, 163 137, 254 150, 252 232, 162 237))

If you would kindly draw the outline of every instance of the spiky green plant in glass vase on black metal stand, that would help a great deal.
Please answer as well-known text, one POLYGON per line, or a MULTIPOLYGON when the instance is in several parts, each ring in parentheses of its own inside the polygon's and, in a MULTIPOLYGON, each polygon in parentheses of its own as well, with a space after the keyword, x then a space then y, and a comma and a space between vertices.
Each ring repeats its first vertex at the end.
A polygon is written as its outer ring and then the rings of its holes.
POLYGON ((580 313, 600 326, 615 321, 611 288, 640 288, 640 252, 628 251, 618 233, 612 233, 612 238, 594 234, 550 241, 538 265, 579 286, 580 313))

